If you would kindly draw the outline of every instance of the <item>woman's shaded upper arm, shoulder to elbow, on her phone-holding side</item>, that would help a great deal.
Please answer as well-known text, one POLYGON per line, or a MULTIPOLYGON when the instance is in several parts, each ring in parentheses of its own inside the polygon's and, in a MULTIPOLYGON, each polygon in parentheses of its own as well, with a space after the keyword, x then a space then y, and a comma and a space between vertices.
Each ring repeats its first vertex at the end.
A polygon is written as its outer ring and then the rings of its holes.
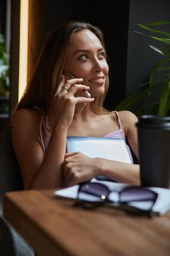
POLYGON ((18 110, 12 118, 12 145, 15 150, 24 187, 28 188, 42 163, 44 151, 39 142, 41 114, 36 110, 18 110))

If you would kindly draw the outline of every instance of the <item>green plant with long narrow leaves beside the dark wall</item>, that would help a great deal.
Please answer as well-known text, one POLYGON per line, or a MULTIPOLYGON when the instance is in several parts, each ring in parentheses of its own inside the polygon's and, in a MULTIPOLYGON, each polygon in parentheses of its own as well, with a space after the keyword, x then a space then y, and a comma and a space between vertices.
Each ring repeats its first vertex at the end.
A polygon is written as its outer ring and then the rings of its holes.
POLYGON ((116 107, 116 110, 132 110, 136 116, 154 114, 167 116, 170 112, 170 33, 155 29, 157 26, 170 24, 161 20, 150 24, 136 24, 144 31, 135 31, 152 38, 157 44, 150 45, 152 50, 163 56, 161 61, 152 66, 150 80, 137 86, 116 107))

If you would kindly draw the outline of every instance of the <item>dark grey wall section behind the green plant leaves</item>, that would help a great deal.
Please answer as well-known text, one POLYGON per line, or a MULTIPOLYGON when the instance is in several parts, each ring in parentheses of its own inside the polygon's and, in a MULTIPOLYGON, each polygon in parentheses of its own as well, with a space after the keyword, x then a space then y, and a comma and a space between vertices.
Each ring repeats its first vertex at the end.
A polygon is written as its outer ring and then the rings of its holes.
MULTIPOLYGON (((152 23, 158 20, 170 21, 169 0, 130 1, 126 92, 146 83, 149 80, 152 65, 163 58, 161 54, 149 47, 149 44, 155 44, 155 40, 134 32, 142 31, 135 25, 136 23, 152 23)), ((170 31, 170 26, 161 26, 160 29, 170 31)))

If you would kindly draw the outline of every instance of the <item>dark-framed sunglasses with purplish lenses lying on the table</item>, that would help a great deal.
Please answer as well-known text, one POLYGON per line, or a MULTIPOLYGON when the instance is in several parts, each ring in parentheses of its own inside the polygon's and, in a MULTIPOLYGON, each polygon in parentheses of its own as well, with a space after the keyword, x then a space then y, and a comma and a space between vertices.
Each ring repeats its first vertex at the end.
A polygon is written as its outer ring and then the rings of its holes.
POLYGON ((144 187, 125 187, 121 191, 112 191, 105 184, 85 182, 77 192, 77 206, 96 208, 104 203, 120 206, 126 211, 139 212, 153 217, 152 207, 158 197, 156 192, 144 187), (144 209, 133 206, 133 202, 144 201, 144 209), (147 201, 147 203, 146 203, 147 201))

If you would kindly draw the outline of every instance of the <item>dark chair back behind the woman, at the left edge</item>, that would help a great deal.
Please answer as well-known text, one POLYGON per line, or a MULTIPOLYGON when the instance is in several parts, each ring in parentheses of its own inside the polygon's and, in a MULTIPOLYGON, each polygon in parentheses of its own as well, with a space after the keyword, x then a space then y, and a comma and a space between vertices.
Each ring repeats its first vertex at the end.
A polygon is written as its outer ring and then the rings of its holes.
POLYGON ((12 127, 9 126, 0 135, 0 192, 20 189, 23 189, 23 178, 12 146, 12 127))

